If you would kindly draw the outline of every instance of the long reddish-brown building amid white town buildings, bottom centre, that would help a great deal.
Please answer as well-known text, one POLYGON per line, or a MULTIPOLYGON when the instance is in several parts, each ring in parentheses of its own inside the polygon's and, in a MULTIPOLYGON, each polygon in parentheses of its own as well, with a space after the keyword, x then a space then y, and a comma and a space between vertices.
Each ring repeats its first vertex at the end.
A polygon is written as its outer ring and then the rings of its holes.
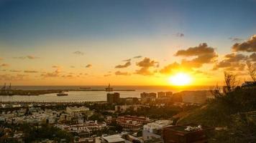
POLYGON ((116 118, 116 124, 119 124, 124 129, 129 129, 132 131, 139 130, 143 124, 151 122, 147 117, 136 117, 136 116, 122 116, 116 118))

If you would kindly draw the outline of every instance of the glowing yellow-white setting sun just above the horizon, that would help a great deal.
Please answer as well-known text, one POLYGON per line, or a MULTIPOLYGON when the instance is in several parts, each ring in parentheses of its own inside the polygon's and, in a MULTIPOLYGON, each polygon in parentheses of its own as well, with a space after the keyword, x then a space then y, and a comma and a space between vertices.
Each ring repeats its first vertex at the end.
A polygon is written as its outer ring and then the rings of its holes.
POLYGON ((185 73, 178 73, 169 78, 170 84, 184 86, 191 83, 191 77, 185 73))

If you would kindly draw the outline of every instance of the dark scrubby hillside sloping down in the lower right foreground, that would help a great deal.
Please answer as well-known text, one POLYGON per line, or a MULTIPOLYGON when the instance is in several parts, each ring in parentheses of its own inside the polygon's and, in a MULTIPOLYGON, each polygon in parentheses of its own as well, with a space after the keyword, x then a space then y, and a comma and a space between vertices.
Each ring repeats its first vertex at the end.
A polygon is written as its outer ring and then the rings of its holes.
POLYGON ((216 127, 209 142, 256 142, 256 89, 236 89, 201 108, 183 113, 178 124, 204 124, 216 127))

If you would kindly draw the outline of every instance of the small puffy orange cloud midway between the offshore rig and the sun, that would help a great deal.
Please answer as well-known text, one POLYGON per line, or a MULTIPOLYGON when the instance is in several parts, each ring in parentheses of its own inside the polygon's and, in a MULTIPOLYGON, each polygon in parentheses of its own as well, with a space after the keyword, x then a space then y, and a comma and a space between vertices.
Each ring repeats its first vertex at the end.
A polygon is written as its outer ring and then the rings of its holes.
POLYGON ((159 62, 151 60, 150 58, 145 57, 142 61, 137 62, 137 66, 141 68, 135 71, 135 74, 141 74, 145 76, 150 76, 155 74, 155 72, 150 71, 151 67, 158 67, 159 62))

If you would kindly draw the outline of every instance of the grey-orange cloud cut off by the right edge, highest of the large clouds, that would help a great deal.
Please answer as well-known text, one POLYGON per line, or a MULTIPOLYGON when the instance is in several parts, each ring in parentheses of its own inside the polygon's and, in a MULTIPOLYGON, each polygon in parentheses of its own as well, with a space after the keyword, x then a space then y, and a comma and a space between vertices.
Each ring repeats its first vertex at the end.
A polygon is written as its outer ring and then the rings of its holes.
POLYGON ((234 44, 232 46, 232 49, 233 51, 255 52, 256 51, 256 35, 253 35, 247 41, 234 44))

